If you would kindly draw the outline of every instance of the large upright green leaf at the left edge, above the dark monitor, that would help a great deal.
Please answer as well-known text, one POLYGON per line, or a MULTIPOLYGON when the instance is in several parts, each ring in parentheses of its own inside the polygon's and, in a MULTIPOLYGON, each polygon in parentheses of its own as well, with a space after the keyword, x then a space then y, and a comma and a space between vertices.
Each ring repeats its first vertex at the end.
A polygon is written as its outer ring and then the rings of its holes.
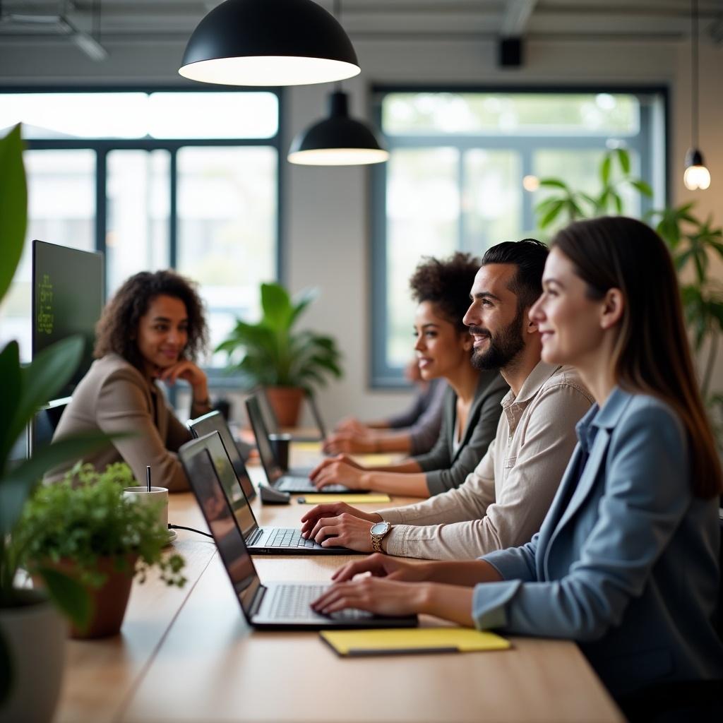
POLYGON ((0 301, 15 273, 27 226, 27 187, 17 125, 0 139, 0 301))

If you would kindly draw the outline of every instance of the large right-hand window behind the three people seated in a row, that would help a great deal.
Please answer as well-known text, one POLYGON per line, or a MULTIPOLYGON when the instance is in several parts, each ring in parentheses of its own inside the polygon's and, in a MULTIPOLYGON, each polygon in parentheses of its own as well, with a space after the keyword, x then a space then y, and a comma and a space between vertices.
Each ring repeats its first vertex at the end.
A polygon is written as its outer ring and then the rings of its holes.
MULTIPOLYGON (((372 384, 401 385, 412 356, 408 278, 423 256, 481 255, 540 237, 535 180, 593 189, 606 150, 625 147, 662 200, 664 93, 420 92, 377 89, 391 153, 375 168, 372 384), (527 190, 531 189, 531 190, 527 190)), ((636 194, 626 213, 639 215, 636 194)))

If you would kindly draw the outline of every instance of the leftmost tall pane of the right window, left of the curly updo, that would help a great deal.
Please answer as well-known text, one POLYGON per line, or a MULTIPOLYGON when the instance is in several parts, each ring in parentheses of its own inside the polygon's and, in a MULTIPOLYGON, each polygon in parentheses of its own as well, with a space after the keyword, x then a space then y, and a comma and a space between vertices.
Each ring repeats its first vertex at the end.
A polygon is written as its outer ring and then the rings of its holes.
POLYGON ((387 361, 402 367, 414 354, 409 277, 422 256, 448 256, 457 247, 459 153, 395 150, 387 166, 387 361))

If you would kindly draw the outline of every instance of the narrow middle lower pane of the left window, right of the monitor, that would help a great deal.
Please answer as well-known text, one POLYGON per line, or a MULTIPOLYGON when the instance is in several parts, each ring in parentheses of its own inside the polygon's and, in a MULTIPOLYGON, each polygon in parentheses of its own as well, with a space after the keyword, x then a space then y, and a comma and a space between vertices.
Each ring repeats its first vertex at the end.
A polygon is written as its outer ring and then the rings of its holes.
POLYGON ((108 153, 107 294, 138 271, 168 268, 171 156, 166 150, 108 153))

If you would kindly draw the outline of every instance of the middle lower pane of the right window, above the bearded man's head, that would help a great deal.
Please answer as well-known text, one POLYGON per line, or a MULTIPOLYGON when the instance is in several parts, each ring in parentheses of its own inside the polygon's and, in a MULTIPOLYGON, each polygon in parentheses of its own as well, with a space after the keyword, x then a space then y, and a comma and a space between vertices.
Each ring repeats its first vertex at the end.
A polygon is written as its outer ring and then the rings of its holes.
POLYGON ((508 150, 469 150, 464 155, 465 215, 462 248, 481 256, 500 241, 518 239, 522 221, 521 161, 508 150))

